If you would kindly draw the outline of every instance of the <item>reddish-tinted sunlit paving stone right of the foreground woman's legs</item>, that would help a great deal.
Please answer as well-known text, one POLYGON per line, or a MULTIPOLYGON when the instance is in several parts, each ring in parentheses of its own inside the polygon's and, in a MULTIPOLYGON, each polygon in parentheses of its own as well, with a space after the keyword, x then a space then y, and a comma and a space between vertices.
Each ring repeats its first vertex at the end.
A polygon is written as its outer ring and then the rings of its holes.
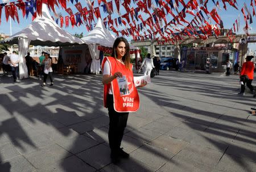
POLYGON ((164 133, 172 130, 174 128, 174 126, 163 124, 163 123, 160 123, 160 122, 151 122, 149 124, 146 124, 142 128, 145 128, 147 130, 151 130, 151 131, 154 131, 154 132, 158 132, 160 134, 164 134, 164 133))

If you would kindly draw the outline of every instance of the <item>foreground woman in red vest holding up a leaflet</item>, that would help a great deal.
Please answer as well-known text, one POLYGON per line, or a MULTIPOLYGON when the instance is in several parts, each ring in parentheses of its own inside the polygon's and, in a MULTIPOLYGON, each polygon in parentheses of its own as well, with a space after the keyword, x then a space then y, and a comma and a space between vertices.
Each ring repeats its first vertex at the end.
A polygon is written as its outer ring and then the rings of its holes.
MULTIPOLYGON (((139 94, 133 82, 133 65, 130 63, 130 48, 128 41, 118 37, 114 41, 111 57, 102 61, 104 84, 104 107, 109 111, 109 146, 110 157, 114 164, 120 158, 128 158, 129 154, 121 147, 123 132, 127 124, 129 112, 139 109, 139 94), (121 93, 120 88, 127 87, 121 93)), ((140 87, 144 87, 142 82, 140 87)))

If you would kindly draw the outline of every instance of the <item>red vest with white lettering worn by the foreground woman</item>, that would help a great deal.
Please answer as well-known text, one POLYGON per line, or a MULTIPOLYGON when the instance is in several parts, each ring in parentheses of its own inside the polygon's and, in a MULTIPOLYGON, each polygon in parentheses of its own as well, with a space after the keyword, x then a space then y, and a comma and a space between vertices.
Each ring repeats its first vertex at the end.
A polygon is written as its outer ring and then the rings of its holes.
POLYGON ((102 61, 102 68, 106 61, 110 64, 110 76, 114 75, 115 72, 121 72, 123 76, 126 76, 128 83, 128 89, 119 88, 117 79, 114 79, 110 84, 104 85, 104 107, 106 107, 106 95, 108 94, 109 88, 112 87, 114 97, 114 109, 117 112, 135 112, 139 109, 139 94, 134 85, 133 81, 133 70, 128 70, 123 63, 117 61, 113 57, 105 57, 102 61), (125 89, 125 94, 122 95, 122 89, 125 89))

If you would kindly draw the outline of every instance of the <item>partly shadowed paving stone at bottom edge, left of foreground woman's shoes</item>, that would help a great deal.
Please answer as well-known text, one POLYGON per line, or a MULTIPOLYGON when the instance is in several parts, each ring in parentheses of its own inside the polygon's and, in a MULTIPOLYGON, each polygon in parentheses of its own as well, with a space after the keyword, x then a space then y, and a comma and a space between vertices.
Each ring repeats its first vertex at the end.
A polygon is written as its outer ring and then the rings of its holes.
POLYGON ((43 167, 43 169, 38 170, 38 172, 62 172, 62 171, 90 172, 90 171, 96 171, 96 169, 87 165, 85 162, 83 162, 76 156, 71 156, 59 162, 56 162, 55 164, 43 167))

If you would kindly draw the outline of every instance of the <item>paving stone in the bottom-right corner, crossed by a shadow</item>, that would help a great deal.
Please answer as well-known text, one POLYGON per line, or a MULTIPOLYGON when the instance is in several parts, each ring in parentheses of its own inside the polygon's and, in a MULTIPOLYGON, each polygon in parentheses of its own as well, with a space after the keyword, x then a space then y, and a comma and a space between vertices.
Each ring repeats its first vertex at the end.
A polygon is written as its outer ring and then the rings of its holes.
POLYGON ((228 172, 253 172, 256 169, 256 163, 241 157, 224 154, 216 168, 228 172))

